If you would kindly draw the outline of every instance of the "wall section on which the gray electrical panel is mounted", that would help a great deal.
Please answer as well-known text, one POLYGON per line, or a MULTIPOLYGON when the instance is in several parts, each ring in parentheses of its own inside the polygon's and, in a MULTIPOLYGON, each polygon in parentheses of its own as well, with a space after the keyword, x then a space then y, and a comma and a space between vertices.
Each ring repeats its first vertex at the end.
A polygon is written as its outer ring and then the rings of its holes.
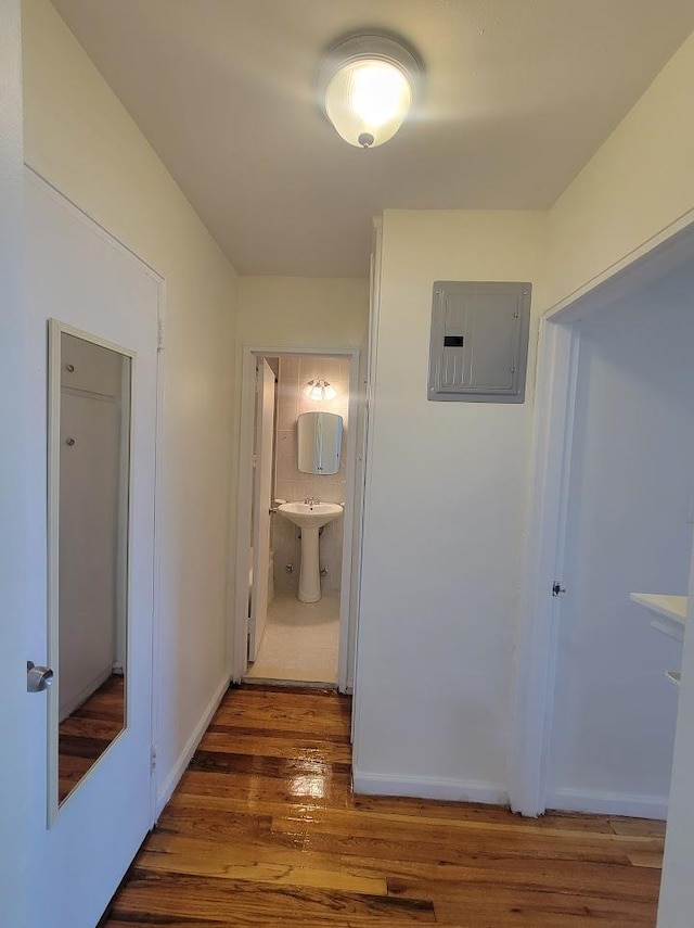
POLYGON ((505 797, 537 308, 525 404, 433 403, 432 284, 530 281, 542 305, 545 224, 384 214, 357 669, 365 791, 505 797))

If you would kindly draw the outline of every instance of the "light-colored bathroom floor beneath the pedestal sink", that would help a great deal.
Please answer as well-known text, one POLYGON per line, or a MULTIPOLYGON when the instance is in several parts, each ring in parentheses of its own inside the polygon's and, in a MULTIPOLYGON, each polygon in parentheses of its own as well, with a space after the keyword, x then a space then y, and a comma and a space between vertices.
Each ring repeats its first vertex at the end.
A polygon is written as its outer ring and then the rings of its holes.
POLYGON ((335 686, 338 647, 338 590, 326 590, 318 602, 299 602, 293 593, 275 594, 258 657, 245 678, 335 686))

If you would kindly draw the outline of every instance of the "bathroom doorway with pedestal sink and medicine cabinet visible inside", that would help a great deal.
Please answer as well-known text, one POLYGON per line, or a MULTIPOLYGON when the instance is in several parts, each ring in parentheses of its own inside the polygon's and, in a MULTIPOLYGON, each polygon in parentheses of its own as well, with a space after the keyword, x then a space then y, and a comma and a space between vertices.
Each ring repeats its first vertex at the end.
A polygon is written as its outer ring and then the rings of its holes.
POLYGON ((244 354, 236 682, 352 688, 364 434, 359 384, 356 348, 244 354), (322 456, 311 460, 321 442, 322 456))

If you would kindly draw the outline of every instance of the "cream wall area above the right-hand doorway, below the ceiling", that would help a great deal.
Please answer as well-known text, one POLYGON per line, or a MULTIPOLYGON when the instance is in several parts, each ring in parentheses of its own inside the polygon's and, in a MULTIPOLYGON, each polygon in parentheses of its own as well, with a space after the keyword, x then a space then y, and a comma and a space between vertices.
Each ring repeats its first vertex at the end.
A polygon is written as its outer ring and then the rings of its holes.
POLYGON ((685 224, 693 88, 694 35, 550 211, 548 306, 685 224))

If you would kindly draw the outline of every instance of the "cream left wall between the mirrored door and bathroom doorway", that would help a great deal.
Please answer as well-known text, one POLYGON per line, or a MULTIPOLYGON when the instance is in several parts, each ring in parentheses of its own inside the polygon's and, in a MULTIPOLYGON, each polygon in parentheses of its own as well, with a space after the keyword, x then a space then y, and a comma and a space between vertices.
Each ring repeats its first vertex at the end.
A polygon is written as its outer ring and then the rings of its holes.
POLYGON ((53 7, 23 16, 27 163, 166 280, 162 792, 227 676, 236 275, 53 7))

